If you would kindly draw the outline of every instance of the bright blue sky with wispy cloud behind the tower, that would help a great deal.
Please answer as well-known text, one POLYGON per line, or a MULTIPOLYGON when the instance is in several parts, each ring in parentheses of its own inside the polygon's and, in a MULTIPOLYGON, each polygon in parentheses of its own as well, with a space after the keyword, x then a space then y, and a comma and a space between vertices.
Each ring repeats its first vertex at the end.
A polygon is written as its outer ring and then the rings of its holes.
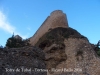
POLYGON ((91 43, 100 40, 100 0, 0 0, 0 44, 13 32, 33 36, 54 10, 66 13, 69 26, 91 43))

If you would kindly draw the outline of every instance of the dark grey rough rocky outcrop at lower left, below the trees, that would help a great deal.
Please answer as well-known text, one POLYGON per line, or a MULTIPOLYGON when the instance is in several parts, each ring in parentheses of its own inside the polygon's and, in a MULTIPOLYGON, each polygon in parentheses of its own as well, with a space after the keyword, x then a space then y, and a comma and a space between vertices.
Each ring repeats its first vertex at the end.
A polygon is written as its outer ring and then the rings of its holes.
POLYGON ((0 49, 0 75, 47 75, 43 51, 36 47, 0 49))

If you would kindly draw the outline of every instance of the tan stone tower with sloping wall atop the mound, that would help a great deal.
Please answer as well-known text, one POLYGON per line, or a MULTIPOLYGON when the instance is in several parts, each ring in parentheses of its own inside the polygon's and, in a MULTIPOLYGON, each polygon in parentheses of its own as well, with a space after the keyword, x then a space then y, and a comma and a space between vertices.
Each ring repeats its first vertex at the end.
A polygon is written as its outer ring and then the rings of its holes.
POLYGON ((30 38, 30 44, 35 45, 46 32, 57 27, 68 27, 66 14, 61 10, 55 10, 47 17, 34 36, 30 38))

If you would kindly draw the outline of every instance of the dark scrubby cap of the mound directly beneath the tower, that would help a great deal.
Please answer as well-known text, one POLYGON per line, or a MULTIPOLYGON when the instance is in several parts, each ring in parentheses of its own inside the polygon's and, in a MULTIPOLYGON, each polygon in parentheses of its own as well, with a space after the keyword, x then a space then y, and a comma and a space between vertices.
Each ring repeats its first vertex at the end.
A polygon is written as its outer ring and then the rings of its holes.
POLYGON ((64 39, 68 38, 86 38, 81 35, 79 32, 72 28, 62 28, 58 27, 55 29, 50 29, 46 34, 44 34, 39 41, 37 42, 36 46, 44 49, 46 46, 50 46, 51 44, 55 43, 60 45, 61 47, 64 45, 64 39))

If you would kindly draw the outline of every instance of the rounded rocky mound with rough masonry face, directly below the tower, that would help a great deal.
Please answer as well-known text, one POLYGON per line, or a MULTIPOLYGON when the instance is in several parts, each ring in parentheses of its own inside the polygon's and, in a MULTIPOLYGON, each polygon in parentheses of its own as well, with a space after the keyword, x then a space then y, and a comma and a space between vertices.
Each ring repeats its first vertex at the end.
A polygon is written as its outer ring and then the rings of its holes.
POLYGON ((55 28, 43 35, 36 44, 45 53, 47 75, 99 75, 100 58, 88 39, 72 28, 55 28), (64 72, 64 69, 66 71, 64 72))

